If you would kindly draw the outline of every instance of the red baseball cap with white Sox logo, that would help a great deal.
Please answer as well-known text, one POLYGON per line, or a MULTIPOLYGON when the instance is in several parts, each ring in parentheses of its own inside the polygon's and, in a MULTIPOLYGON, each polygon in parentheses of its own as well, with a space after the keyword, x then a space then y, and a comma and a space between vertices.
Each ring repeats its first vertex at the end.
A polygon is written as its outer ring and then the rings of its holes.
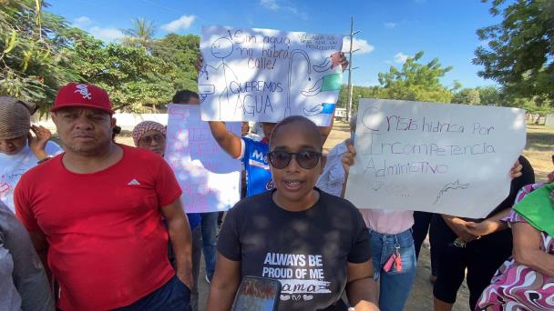
POLYGON ((85 83, 72 82, 59 89, 54 106, 50 111, 55 112, 65 107, 97 108, 110 115, 114 114, 108 93, 97 85, 85 83))

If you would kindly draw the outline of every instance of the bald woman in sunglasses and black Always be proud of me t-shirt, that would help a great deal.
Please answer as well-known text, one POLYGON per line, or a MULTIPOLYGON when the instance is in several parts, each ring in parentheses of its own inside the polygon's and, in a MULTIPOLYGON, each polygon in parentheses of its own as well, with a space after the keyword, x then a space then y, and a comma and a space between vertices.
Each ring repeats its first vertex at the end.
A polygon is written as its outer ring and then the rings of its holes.
POLYGON ((348 201, 314 188, 322 147, 303 116, 275 126, 268 154, 275 189, 229 211, 208 310, 229 310, 244 276, 278 279, 280 310, 339 309, 344 290, 356 310, 377 310, 364 219, 348 201))

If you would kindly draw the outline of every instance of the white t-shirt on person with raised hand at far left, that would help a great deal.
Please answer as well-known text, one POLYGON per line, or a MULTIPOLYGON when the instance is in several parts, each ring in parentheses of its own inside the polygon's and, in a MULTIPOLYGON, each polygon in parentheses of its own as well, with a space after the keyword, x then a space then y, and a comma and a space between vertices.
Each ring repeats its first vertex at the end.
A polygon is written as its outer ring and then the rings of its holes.
MULTIPOLYGON (((46 154, 56 156, 64 150, 56 143, 48 141, 45 147, 46 154)), ((0 200, 15 214, 14 189, 19 178, 26 171, 36 166, 36 156, 29 145, 26 145, 17 155, 7 156, 0 154, 0 200)))

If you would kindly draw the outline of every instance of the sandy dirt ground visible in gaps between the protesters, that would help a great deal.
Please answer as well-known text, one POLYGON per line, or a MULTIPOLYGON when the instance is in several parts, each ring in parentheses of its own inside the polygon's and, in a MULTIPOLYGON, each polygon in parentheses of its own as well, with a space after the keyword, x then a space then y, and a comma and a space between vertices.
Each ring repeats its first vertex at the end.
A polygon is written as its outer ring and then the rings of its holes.
MULTIPOLYGON (((349 136, 350 133, 348 124, 335 122, 333 125, 333 131, 324 145, 324 150, 329 151, 334 145, 349 136)), ((125 133, 118 137, 118 142, 126 145, 133 144, 132 138, 125 133)), ((554 145, 554 132, 552 129, 545 128, 544 126, 528 125, 528 142, 523 155, 528 157, 528 160, 535 169, 535 175, 538 180, 545 180, 547 174, 553 168, 551 161, 552 145, 554 145)), ((429 282, 429 275, 431 273, 431 261, 429 254, 429 245, 426 242, 424 243, 419 256, 415 283, 412 287, 410 298, 405 306, 405 310, 433 310, 433 285, 429 282)), ((209 284, 204 280, 205 273, 203 259, 200 271, 200 310, 205 310, 209 284)), ((469 293, 467 290, 467 284, 464 282, 458 291, 457 302, 454 306, 454 310, 469 310, 468 299, 469 293)))

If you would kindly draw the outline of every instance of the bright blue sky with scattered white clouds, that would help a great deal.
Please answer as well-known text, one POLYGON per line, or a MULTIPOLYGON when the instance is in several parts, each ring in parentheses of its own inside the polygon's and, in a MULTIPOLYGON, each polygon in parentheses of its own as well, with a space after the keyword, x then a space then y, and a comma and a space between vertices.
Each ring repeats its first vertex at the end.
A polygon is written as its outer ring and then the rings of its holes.
POLYGON ((408 55, 424 51, 452 65, 443 83, 464 87, 495 85, 477 76, 471 64, 480 42, 476 30, 499 22, 479 0, 47 0, 47 11, 64 16, 105 41, 118 40, 137 16, 152 20, 156 36, 169 32, 200 35, 202 25, 272 28, 284 31, 348 34, 354 15, 354 85, 378 85, 377 74, 400 67, 408 55))

